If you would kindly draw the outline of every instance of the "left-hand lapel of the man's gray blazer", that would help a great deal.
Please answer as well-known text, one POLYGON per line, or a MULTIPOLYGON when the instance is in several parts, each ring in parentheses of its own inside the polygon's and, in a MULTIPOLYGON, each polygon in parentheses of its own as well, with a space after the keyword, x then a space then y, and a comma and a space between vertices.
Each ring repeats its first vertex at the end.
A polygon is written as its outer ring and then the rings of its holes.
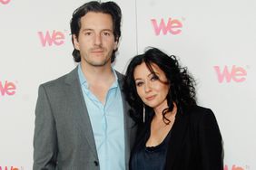
POLYGON ((67 74, 65 82, 68 86, 68 93, 70 94, 67 95, 67 98, 70 98, 69 100, 72 103, 71 106, 76 116, 79 117, 77 119, 81 120, 77 123, 81 126, 81 129, 84 131, 84 136, 87 140, 87 143, 92 148, 92 152, 94 153, 94 156, 97 158, 98 156, 94 142, 94 132, 91 126, 88 110, 84 102, 83 91, 81 89, 78 77, 78 67, 76 67, 73 71, 67 74))

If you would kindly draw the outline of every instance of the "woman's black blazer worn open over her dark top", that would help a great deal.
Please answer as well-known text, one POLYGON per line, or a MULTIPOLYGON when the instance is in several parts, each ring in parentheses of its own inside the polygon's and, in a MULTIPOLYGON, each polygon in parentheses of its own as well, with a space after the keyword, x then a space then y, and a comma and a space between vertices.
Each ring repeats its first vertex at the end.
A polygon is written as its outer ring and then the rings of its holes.
MULTIPOLYGON (((139 134, 140 140, 143 133, 139 134)), ((179 111, 166 149, 166 170, 223 169, 222 135, 211 109, 194 106, 179 111)))

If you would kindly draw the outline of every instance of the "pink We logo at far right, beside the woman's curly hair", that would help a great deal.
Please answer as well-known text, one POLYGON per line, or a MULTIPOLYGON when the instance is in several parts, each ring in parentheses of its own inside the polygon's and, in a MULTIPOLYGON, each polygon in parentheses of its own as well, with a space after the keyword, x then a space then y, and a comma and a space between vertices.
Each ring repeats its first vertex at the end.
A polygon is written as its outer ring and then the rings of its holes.
POLYGON ((246 80, 247 72, 241 67, 233 65, 231 71, 229 71, 228 66, 225 66, 222 71, 220 66, 214 66, 214 69, 220 83, 222 83, 224 79, 227 82, 231 82, 231 80, 235 82, 242 82, 246 80))

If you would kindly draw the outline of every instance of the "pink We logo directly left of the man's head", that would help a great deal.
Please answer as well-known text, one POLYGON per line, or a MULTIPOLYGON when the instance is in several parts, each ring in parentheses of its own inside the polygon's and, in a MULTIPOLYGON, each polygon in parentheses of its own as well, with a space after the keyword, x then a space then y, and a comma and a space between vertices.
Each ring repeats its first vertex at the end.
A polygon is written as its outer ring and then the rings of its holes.
POLYGON ((43 32, 38 32, 38 35, 43 47, 46 46, 46 43, 48 43, 49 46, 52 46, 53 44, 59 46, 64 43, 64 33, 62 32, 56 32, 55 30, 52 34, 49 31, 45 34, 43 32))

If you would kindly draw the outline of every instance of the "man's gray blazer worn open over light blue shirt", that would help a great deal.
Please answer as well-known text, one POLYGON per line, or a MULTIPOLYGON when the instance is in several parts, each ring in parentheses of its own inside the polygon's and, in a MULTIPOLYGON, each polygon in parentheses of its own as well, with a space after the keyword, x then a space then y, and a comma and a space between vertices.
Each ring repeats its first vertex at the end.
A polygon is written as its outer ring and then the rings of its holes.
MULTIPOLYGON (((122 89, 123 75, 116 73, 122 89)), ((123 97, 126 169, 135 135, 128 109, 123 97)), ((77 67, 63 77, 39 87, 35 109, 33 169, 100 169, 77 67)))

